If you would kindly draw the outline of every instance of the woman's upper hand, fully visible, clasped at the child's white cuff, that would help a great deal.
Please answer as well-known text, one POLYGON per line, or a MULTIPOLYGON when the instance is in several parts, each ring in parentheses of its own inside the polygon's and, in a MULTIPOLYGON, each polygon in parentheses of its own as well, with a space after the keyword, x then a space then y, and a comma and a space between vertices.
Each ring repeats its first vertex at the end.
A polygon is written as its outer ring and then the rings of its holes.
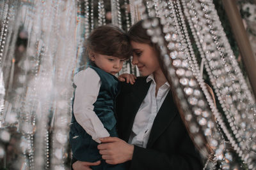
POLYGON ((108 164, 121 164, 132 160, 134 146, 122 139, 115 137, 100 138, 102 142, 98 145, 102 159, 108 164))

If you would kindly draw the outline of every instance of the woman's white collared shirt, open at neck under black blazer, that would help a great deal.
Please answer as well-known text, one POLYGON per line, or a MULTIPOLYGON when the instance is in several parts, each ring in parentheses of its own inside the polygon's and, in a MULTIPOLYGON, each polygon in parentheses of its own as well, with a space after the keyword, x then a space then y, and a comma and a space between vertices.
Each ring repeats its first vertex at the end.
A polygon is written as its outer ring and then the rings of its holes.
POLYGON ((157 112, 161 108, 165 97, 167 96, 170 85, 166 81, 158 90, 156 96, 156 81, 153 74, 147 77, 147 82, 152 80, 147 95, 140 105, 140 108, 134 118, 132 132, 128 143, 143 148, 147 147, 148 138, 157 112))

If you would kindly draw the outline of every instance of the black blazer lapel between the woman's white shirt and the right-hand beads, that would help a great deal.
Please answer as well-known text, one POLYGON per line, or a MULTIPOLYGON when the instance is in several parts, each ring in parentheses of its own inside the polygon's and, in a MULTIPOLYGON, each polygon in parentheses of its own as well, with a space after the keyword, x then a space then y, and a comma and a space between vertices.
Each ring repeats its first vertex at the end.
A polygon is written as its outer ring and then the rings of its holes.
POLYGON ((176 105, 173 102, 172 94, 171 92, 168 92, 152 125, 147 148, 150 148, 153 145, 156 139, 164 132, 164 130, 172 122, 173 118, 177 115, 178 111, 175 108, 176 105))

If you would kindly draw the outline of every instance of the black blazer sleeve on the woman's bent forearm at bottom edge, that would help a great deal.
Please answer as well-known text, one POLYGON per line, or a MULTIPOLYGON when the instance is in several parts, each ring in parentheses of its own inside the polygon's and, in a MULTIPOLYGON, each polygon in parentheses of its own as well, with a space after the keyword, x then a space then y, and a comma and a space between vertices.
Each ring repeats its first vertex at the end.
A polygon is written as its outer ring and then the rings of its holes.
POLYGON ((195 149, 188 134, 180 143, 179 153, 167 155, 157 150, 134 146, 130 169, 182 169, 199 170, 202 169, 200 155, 195 149))

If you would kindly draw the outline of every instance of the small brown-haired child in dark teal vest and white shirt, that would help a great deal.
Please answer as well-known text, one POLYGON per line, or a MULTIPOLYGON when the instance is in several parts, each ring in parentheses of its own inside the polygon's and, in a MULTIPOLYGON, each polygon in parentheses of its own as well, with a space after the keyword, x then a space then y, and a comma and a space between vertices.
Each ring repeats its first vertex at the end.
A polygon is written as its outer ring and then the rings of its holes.
MULTIPOLYGON (((89 67, 74 76, 70 144, 74 159, 95 162, 102 160, 97 149, 100 138, 117 137, 114 114, 118 79, 114 75, 132 55, 132 48, 125 33, 113 25, 95 29, 86 48, 89 67)), ((123 78, 134 83, 132 74, 123 78)), ((124 165, 110 165, 102 160, 92 169, 124 169, 124 165)))

